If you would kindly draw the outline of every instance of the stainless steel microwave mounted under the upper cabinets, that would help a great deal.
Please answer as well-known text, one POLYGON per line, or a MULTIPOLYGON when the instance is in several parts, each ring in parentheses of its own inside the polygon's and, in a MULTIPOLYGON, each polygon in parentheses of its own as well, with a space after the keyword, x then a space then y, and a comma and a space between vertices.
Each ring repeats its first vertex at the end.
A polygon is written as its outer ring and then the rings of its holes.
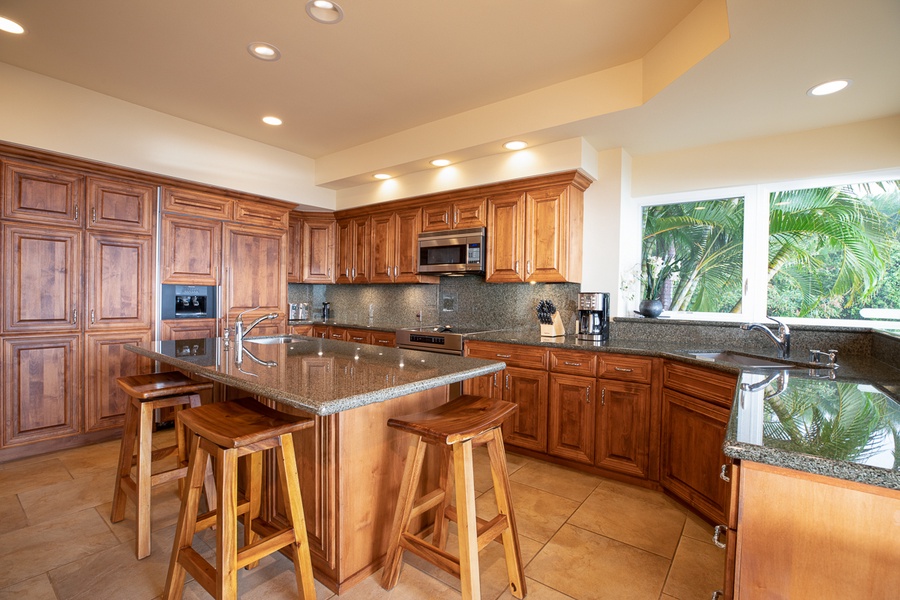
POLYGON ((419 273, 484 272, 484 228, 419 234, 419 273))

